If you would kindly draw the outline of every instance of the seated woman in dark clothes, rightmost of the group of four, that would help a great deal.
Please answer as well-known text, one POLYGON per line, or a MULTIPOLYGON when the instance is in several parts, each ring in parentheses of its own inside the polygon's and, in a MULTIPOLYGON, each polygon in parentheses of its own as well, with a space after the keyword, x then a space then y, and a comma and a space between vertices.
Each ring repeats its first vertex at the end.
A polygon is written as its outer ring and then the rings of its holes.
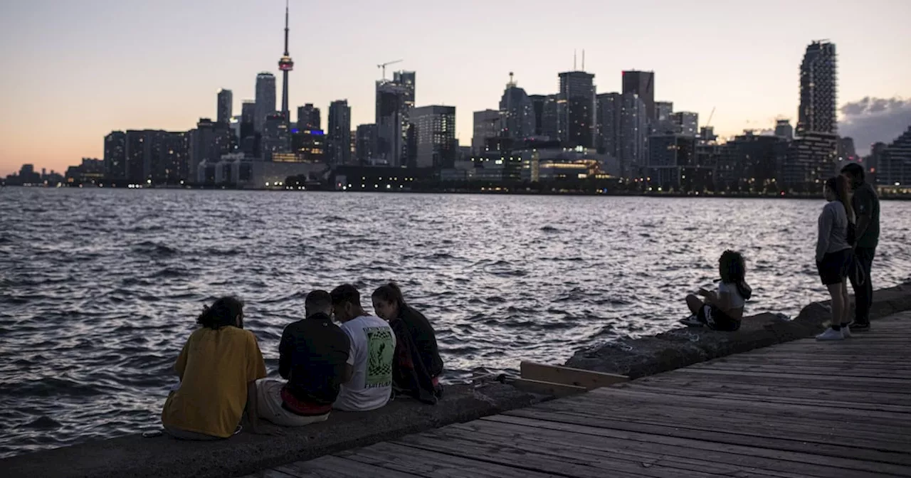
POLYGON ((443 359, 430 321, 405 303, 402 290, 394 282, 374 290, 372 299, 376 315, 387 320, 395 333, 394 391, 436 403, 443 392, 439 384, 443 359))

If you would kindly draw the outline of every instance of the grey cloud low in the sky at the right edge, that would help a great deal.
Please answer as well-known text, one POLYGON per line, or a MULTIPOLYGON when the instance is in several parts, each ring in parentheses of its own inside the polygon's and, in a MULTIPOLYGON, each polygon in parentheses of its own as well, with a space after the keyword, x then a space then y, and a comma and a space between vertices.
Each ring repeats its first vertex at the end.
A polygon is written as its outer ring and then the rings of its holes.
POLYGON ((865 97, 845 103, 840 111, 838 133, 853 137, 861 155, 869 153, 871 144, 890 143, 911 126, 911 99, 903 97, 865 97))

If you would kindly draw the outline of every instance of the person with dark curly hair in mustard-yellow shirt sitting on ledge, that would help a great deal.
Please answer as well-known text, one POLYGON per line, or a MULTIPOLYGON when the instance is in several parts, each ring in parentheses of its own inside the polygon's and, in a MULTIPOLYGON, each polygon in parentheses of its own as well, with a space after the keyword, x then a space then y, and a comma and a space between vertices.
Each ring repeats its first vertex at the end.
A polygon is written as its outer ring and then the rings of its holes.
POLYGON ((201 327, 174 364, 180 385, 161 412, 165 431, 182 440, 229 438, 246 407, 251 432, 261 432, 255 382, 266 376, 266 364, 256 336, 243 330, 243 302, 222 297, 196 321, 201 327))

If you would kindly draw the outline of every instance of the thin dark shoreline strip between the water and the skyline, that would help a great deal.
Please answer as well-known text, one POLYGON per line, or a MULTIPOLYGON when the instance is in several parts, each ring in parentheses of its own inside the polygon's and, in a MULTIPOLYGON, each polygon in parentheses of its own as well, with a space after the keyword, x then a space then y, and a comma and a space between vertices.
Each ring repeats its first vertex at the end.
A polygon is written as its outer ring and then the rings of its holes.
MULTIPOLYGON (((24 186, 17 184, 2 184, 0 188, 46 188, 56 189, 53 186, 24 186)), ((66 186, 62 188, 81 188, 75 186, 66 186)), ((97 187, 89 186, 86 189, 97 187)), ((99 188, 105 189, 105 188, 99 188)), ((133 188, 108 188, 108 189, 133 189, 133 188)), ((363 194, 363 193, 383 193, 383 194, 460 194, 460 195, 507 195, 507 196, 605 196, 616 198, 735 198, 735 199, 819 199, 822 194, 751 194, 751 193, 708 193, 708 194, 688 194, 688 193, 641 193, 641 192, 600 192, 600 191, 533 191, 533 190, 508 190, 507 188, 490 188, 490 190, 466 190, 466 189, 409 189, 387 191, 383 189, 376 190, 335 190, 322 188, 294 189, 294 188, 230 188, 230 187, 186 187, 186 186, 156 186, 151 188, 136 189, 188 189, 188 190, 230 190, 230 191, 266 191, 266 192, 333 192, 345 194, 363 194)), ((911 200, 911 194, 880 194, 882 200, 911 200)))

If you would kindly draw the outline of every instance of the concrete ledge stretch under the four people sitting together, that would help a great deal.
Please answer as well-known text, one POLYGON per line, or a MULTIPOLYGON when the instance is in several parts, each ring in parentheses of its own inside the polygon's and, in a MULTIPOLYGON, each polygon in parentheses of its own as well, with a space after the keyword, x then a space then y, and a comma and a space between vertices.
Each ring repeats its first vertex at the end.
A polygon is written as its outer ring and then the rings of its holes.
POLYGON ((436 405, 406 399, 375 412, 333 412, 327 422, 284 429, 281 436, 241 432, 218 442, 180 442, 136 434, 0 460, 0 474, 5 478, 241 476, 450 423, 469 422, 540 399, 499 383, 479 389, 455 385, 446 388, 443 400, 436 405))

